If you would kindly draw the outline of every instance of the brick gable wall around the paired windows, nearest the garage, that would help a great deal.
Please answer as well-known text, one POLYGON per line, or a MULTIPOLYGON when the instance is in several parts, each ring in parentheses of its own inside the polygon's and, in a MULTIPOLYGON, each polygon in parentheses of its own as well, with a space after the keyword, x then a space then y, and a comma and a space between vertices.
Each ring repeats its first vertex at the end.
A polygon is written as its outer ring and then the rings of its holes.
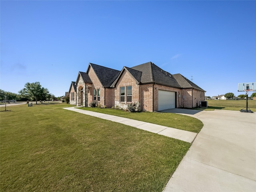
POLYGON ((126 86, 132 86, 132 102, 138 102, 140 109, 140 100, 139 100, 139 85, 136 84, 136 81, 128 72, 124 70, 120 81, 117 82, 116 87, 114 88, 114 105, 118 105, 120 108, 126 108, 126 86), (120 87, 125 87, 125 99, 124 102, 120 102, 120 87))

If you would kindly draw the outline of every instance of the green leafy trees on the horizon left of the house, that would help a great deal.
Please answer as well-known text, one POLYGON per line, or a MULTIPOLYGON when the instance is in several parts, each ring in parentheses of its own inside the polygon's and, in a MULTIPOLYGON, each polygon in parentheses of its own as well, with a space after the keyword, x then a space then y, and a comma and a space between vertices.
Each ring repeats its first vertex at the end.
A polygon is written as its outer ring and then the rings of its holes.
POLYGON ((51 101, 51 100, 60 100, 60 97, 50 94, 47 88, 44 88, 40 85, 40 82, 26 83, 24 88, 18 92, 19 94, 4 91, 0 89, 0 100, 17 100, 17 101, 51 101))

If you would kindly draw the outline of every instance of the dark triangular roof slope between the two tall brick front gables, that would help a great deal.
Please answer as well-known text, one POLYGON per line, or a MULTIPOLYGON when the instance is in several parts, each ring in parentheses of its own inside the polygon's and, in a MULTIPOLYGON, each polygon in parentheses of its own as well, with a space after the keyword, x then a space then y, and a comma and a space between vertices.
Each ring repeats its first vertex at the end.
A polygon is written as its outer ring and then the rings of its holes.
MULTIPOLYGON (((92 69, 98 76, 102 86, 104 86, 105 88, 110 87, 111 84, 116 80, 116 78, 118 77, 118 75, 120 73, 120 71, 118 71, 118 70, 103 67, 103 66, 96 65, 93 63, 89 63, 89 66, 92 66, 92 69)), ((87 70, 87 72, 88 72, 88 70, 87 70)))

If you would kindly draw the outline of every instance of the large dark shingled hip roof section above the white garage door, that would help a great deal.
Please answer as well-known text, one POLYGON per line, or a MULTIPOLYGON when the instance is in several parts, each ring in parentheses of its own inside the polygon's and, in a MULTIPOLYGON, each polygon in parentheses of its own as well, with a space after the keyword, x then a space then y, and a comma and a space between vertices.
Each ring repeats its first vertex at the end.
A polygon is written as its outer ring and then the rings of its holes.
POLYGON ((174 88, 181 88, 172 74, 162 70, 152 62, 134 66, 132 69, 142 72, 141 84, 156 83, 174 88))

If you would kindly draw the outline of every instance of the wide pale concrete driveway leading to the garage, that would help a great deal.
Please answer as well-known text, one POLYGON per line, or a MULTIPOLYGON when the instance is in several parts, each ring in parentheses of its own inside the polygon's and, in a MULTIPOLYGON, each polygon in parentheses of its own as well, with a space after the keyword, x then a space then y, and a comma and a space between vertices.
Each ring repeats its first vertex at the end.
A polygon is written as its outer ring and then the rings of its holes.
POLYGON ((164 192, 255 192, 256 113, 184 112, 204 127, 164 192))

